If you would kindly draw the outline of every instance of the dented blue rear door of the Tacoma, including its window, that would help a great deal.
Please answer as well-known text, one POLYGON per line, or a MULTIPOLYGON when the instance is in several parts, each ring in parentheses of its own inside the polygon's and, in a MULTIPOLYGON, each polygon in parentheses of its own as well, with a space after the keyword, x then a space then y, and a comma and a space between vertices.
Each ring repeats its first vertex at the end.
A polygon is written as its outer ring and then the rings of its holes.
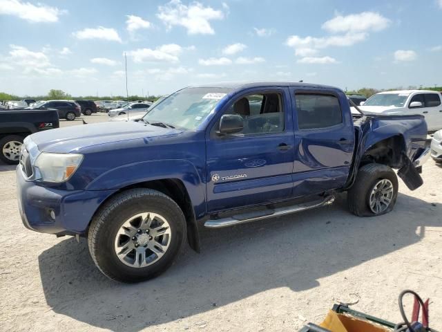
POLYGON ((354 151, 354 125, 338 91, 292 89, 294 98, 294 196, 343 187, 354 151))

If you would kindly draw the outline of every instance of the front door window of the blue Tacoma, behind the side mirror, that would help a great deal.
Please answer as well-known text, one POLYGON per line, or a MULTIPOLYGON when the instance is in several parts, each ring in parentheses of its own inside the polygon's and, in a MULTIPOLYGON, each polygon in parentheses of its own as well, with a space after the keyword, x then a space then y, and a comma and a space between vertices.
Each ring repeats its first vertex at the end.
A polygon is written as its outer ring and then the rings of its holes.
MULTIPOLYGON (((284 112, 278 93, 247 95, 237 100, 224 114, 238 114, 244 120, 239 134, 280 133, 284 131, 284 112)), ((216 126, 218 129, 219 122, 216 126)))

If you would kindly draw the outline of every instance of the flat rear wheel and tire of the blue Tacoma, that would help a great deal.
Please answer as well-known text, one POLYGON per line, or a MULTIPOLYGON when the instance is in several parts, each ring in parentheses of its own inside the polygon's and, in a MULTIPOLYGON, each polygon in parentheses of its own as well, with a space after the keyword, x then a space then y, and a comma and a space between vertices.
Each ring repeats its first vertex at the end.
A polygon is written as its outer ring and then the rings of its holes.
POLYGON ((393 169, 372 163, 358 170, 356 181, 348 191, 347 203, 356 216, 379 216, 393 210, 397 196, 398 178, 393 169))

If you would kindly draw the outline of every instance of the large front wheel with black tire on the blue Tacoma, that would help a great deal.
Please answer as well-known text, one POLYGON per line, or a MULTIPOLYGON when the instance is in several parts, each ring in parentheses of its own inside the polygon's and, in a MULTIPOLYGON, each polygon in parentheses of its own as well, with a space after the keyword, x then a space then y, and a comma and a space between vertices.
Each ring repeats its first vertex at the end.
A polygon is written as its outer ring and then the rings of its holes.
POLYGON ((185 234, 184 214, 175 201, 162 192, 138 188, 117 194, 99 209, 90 223, 88 246, 95 265, 106 277, 119 282, 143 282, 157 277, 173 264, 185 234), (143 219, 153 219, 151 225, 155 226, 165 221, 169 228, 165 223, 160 226, 162 229, 156 228, 164 232, 159 237, 155 236, 155 228, 148 228, 151 230, 148 234, 144 231, 140 234, 137 229, 147 225, 143 224, 143 219), (166 240, 168 243, 164 244, 166 240), (157 254, 160 241, 166 249, 157 254), (124 252, 124 248, 128 249, 127 253, 119 257, 117 252, 124 252), (140 256, 141 252, 144 256, 140 256))

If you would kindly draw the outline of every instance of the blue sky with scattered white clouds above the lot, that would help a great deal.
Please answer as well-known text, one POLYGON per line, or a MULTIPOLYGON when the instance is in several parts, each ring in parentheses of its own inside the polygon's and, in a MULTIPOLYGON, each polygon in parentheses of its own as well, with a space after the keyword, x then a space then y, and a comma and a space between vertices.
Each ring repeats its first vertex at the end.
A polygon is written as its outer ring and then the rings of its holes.
POLYGON ((442 85, 442 0, 0 0, 0 91, 442 85))

